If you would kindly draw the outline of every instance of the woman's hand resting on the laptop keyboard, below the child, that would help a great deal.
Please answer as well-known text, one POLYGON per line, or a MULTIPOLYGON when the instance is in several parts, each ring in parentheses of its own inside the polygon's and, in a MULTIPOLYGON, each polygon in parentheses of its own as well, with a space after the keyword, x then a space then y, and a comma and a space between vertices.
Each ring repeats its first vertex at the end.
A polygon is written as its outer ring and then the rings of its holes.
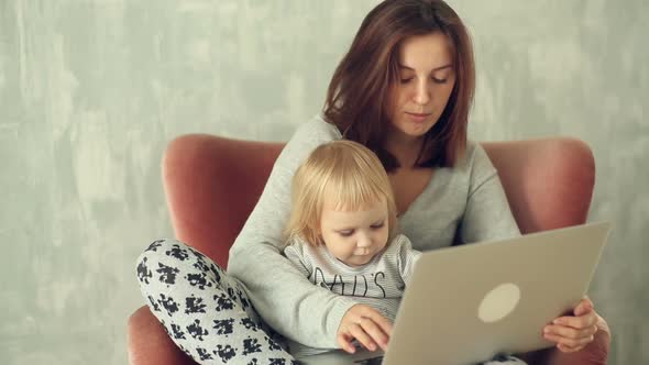
POLYGON ((342 350, 353 354, 356 349, 352 341, 356 339, 365 349, 387 350, 387 341, 392 333, 392 323, 374 308, 355 305, 342 317, 338 328, 338 344, 342 350))

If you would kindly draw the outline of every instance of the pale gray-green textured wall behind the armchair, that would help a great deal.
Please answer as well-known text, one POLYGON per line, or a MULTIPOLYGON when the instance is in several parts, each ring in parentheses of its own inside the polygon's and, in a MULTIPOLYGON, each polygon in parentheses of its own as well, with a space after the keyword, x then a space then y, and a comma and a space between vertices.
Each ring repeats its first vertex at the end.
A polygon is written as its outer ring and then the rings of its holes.
MULTIPOLYGON (((375 3, 0 0, 0 363, 125 363, 133 261, 172 234, 165 143, 288 139, 375 3)), ((592 297, 610 363, 648 362, 649 2, 451 3, 476 44, 472 137, 593 147, 590 220, 615 232, 592 297)))

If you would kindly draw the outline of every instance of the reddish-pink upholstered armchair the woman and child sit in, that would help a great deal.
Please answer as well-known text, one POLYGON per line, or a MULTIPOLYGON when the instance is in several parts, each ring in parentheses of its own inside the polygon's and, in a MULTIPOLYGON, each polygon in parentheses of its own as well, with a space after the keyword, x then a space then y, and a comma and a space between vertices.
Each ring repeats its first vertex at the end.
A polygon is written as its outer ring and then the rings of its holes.
MULTIPOLYGON (((586 144, 546 139, 483 144, 498 169, 524 233, 585 222, 595 179, 586 144)), ((173 141, 163 162, 166 200, 176 237, 222 267, 231 243, 254 208, 283 144, 193 134, 173 141), (242 164, 245 162, 245 164, 242 164), (222 178, 227 174, 228 178, 222 178)), ((538 364, 605 364, 610 343, 600 319, 595 341, 576 354, 542 351, 538 364)), ((146 306, 129 319, 132 365, 195 364, 167 336, 146 306)))

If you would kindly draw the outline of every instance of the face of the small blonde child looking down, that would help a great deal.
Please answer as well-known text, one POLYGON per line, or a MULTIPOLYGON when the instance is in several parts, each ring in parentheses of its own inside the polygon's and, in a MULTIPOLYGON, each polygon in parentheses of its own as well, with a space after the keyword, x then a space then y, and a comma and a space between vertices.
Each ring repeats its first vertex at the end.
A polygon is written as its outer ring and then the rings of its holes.
POLYGON ((320 234, 327 250, 350 266, 367 264, 387 244, 387 201, 361 207, 360 210, 336 209, 324 204, 320 234))

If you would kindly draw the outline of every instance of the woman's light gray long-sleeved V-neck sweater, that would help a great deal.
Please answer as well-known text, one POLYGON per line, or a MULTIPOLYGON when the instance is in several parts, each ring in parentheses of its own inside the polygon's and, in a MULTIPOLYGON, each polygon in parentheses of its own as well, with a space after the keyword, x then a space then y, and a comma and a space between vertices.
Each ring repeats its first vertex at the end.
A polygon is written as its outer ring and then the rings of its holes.
MULTIPOLYGON (((340 140, 334 125, 316 117, 298 128, 277 158, 264 191, 230 250, 228 272, 244 284, 263 319, 277 332, 310 347, 339 347, 338 327, 356 301, 312 285, 282 255, 298 165, 318 145, 340 140)), ((399 230, 419 251, 519 235, 488 156, 469 142, 453 168, 438 168, 399 217, 399 230)))

